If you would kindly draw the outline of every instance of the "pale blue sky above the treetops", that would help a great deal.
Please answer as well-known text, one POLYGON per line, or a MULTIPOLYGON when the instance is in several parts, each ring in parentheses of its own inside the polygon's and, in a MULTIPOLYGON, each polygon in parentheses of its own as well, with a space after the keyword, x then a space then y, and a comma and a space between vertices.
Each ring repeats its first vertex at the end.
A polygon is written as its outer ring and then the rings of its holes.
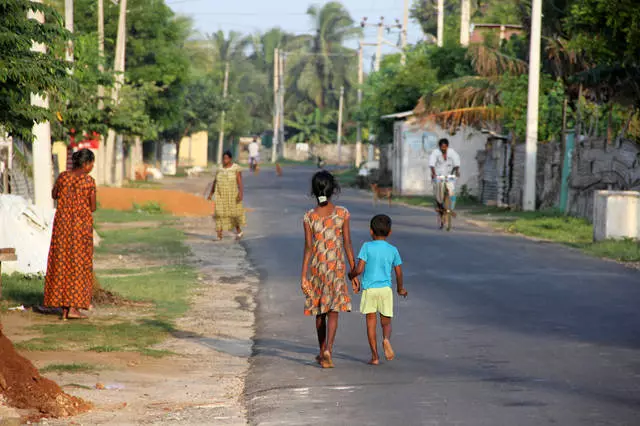
MULTIPOLYGON (((191 16, 196 30, 201 33, 212 33, 222 29, 254 33, 269 28, 280 27, 286 31, 302 34, 312 28, 307 8, 312 5, 328 3, 327 0, 166 0, 167 4, 182 15, 191 16)), ((412 1, 411 1, 412 3, 412 1)), ((404 0, 343 0, 356 23, 366 16, 369 23, 377 23, 381 16, 387 24, 394 24, 396 19, 402 21, 404 0)), ((415 23, 409 24, 408 41, 414 43, 422 38, 422 30, 415 23)), ((398 42, 398 33, 385 36, 392 43, 398 42)), ((367 28, 365 42, 376 41, 376 28, 367 28)), ((357 41, 349 43, 357 47, 357 41)), ((368 47, 365 57, 371 58, 374 47, 368 47)), ((393 52, 393 48, 385 47, 384 53, 393 52)), ((365 60, 365 63, 369 61, 365 60)), ((368 68, 369 64, 365 64, 368 68)))

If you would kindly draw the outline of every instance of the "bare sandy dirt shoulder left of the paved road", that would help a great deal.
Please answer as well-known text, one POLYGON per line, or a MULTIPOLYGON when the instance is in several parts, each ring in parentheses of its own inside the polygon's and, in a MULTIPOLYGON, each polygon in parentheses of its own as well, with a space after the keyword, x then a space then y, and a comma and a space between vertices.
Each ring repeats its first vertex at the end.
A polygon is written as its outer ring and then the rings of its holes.
MULTIPOLYGON (((167 231, 164 225, 147 222, 138 222, 137 227, 167 231)), ((241 244, 230 238, 215 241, 211 217, 178 218, 171 227, 184 233, 181 243, 189 252, 177 258, 177 266, 135 247, 123 256, 99 253, 95 266, 104 283, 120 281, 120 287, 131 277, 158 279, 165 270, 162 268, 179 274, 184 267, 186 276, 193 276, 184 287, 189 293, 186 311, 161 321, 161 315, 150 307, 97 306, 87 323, 109 326, 129 321, 132 330, 142 325, 168 337, 141 351, 67 349, 68 341, 63 339, 59 339, 61 350, 21 349, 65 392, 94 404, 86 414, 46 419, 43 424, 247 424, 243 392, 253 344, 258 276, 241 244), (160 260, 165 265, 159 265, 160 260)), ((113 221, 104 229, 120 238, 133 228, 130 223, 113 221)), ((165 305, 167 312, 176 309, 169 306, 172 303, 165 305)), ((41 338, 39 330, 57 327, 58 321, 55 316, 29 311, 3 316, 6 334, 14 343, 41 338)), ((136 334, 134 338, 145 336, 136 334)), ((0 418, 2 414, 0 411, 0 418)), ((24 413, 13 411, 6 417, 16 414, 24 413)))

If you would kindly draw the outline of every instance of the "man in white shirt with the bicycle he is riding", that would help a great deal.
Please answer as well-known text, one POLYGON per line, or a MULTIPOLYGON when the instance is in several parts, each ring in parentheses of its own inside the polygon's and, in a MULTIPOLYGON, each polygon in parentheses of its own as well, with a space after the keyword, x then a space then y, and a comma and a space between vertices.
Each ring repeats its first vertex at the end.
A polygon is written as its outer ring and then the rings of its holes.
POLYGON ((431 168, 433 195, 436 198, 436 212, 440 215, 440 224, 442 224, 444 189, 446 187, 449 192, 451 210, 453 211, 456 204, 456 188, 454 182, 440 180, 438 176, 454 175, 460 177, 460 156, 453 148, 449 148, 448 139, 443 138, 438 141, 438 149, 434 149, 429 157, 429 167, 431 168))

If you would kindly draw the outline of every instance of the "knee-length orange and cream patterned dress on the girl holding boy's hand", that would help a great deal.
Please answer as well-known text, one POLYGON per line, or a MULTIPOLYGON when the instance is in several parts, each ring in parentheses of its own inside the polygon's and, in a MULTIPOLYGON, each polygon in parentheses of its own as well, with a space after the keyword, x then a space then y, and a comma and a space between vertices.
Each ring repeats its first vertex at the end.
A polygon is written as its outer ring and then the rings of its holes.
POLYGON ((348 218, 349 211, 344 207, 336 207, 328 216, 320 216, 313 210, 304 215, 304 222, 313 234, 310 266, 313 288, 305 300, 305 315, 351 311, 342 243, 342 226, 348 218))

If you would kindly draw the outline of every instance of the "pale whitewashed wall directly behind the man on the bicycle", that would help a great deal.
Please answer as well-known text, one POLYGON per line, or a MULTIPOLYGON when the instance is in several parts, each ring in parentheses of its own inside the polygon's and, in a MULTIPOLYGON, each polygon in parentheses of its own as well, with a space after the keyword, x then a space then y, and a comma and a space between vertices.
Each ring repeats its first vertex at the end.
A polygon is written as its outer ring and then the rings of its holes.
POLYGON ((476 156, 485 149, 487 138, 480 132, 463 128, 455 135, 437 125, 416 126, 402 121, 395 125, 392 173, 394 190, 403 195, 431 195, 429 155, 438 147, 438 140, 449 139, 449 146, 460 155, 460 179, 474 195, 479 194, 478 161, 476 156))

